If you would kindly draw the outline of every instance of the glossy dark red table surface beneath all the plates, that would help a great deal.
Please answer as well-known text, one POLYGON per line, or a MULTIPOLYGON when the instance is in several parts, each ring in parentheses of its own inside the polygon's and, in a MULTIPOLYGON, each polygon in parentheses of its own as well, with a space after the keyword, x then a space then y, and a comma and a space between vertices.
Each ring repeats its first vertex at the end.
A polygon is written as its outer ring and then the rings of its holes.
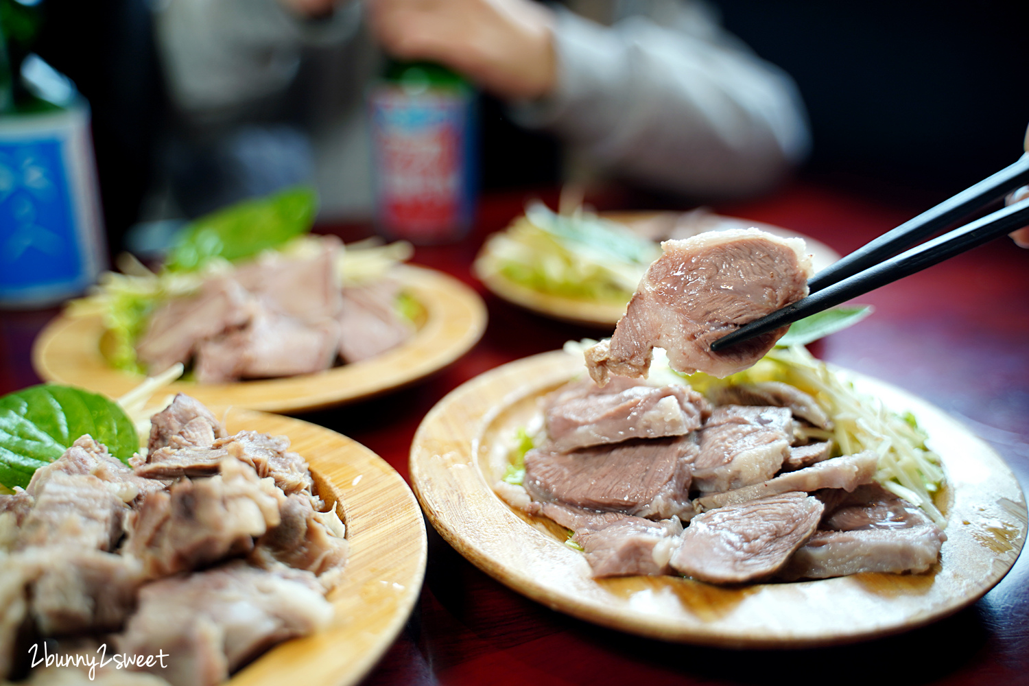
MULTIPOLYGON (((469 266, 525 194, 485 198, 473 233, 419 248, 414 262, 476 288, 490 323, 482 341, 431 378, 393 394, 300 419, 364 443, 407 476, 422 417, 443 395, 497 365, 598 332, 549 321, 487 294, 469 266)), ((544 194, 552 202, 554 195, 544 194)), ((609 208, 616 209, 616 208, 609 208)), ((923 206, 797 184, 759 202, 717 208, 795 229, 846 254, 923 206)), ((324 230, 353 237, 360 227, 324 230)), ((876 313, 813 352, 943 407, 989 441, 1029 484, 1029 251, 1006 239, 859 298, 876 313)), ((0 313, 0 392, 38 383, 32 339, 56 311, 0 313)), ((1029 684, 1029 561, 970 608, 893 638, 804 651, 732 651, 665 644, 600 628, 494 581, 429 529, 429 564, 415 612, 365 680, 395 684, 1029 684)))

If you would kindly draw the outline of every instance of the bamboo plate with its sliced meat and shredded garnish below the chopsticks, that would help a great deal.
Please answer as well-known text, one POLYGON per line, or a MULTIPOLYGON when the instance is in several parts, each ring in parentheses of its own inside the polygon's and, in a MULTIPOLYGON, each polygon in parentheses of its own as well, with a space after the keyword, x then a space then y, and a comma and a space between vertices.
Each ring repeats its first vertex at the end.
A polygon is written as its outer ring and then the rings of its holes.
POLYGON ((598 387, 580 352, 511 362, 426 416, 413 486, 443 538, 499 581, 668 641, 894 634, 975 602, 1015 564, 1025 498, 953 418, 803 350, 752 371, 689 388, 651 368, 598 387), (868 423, 854 398, 875 408, 868 423), (909 471, 909 459, 924 463, 909 471), (927 489, 909 480, 921 472, 927 489))

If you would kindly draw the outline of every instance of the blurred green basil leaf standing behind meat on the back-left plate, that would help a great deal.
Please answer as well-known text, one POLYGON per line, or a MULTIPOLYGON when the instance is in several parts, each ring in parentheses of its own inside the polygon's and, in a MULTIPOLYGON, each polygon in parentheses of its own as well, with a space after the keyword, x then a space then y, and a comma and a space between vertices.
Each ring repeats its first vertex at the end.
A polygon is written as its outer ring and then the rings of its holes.
POLYGON ((165 266, 196 272, 212 257, 235 261, 278 248, 311 230, 317 210, 318 195, 307 186, 237 203, 189 223, 165 266))

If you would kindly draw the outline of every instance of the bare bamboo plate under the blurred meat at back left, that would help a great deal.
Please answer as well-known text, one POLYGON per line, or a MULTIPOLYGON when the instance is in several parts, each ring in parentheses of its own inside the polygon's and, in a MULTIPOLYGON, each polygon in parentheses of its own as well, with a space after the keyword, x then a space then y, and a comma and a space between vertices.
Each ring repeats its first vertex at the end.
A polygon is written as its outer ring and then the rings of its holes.
MULTIPOLYGON (((401 265, 397 276, 423 305, 425 321, 402 346, 368 360, 315 374, 233 384, 177 382, 169 393, 186 393, 206 405, 234 405, 295 412, 368 398, 412 384, 464 355, 482 337, 486 306, 460 281, 424 267, 401 265)), ((36 338, 32 364, 45 381, 117 398, 139 385, 136 374, 110 367, 100 354, 99 317, 60 316, 36 338)))

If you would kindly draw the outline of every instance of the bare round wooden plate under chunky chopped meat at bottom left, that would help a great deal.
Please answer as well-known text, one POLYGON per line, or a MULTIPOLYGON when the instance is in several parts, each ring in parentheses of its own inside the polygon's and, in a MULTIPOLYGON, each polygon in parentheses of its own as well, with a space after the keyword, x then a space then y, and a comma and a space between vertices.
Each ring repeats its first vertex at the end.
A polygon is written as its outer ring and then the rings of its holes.
POLYGON ((230 686, 349 686, 375 666, 403 627, 425 576, 428 541, 414 495, 396 471, 334 431, 278 414, 214 408, 228 432, 289 437, 311 466, 319 495, 342 501, 351 555, 328 594, 323 631, 283 643, 236 674, 230 686))

